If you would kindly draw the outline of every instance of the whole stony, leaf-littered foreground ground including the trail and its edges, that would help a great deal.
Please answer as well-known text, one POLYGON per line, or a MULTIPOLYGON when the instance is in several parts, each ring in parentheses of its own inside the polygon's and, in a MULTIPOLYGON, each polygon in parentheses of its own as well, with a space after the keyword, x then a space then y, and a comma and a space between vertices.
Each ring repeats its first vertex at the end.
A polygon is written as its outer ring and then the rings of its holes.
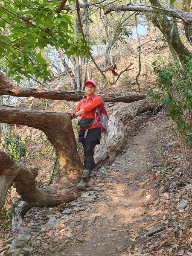
POLYGON ((181 163, 171 125, 164 112, 130 121, 125 147, 96 171, 95 186, 69 204, 30 210, 0 255, 192 255, 192 186, 162 174, 164 160, 181 163))

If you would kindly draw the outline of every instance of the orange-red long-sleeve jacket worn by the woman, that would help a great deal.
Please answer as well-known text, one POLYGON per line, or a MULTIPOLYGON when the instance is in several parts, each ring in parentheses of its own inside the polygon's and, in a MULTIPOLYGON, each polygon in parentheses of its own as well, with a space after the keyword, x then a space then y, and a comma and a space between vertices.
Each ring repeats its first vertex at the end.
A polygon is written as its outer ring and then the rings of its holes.
MULTIPOLYGON (((102 104, 102 98, 94 94, 92 98, 87 99, 87 97, 85 97, 84 99, 81 99, 74 112, 76 113, 79 110, 84 109, 85 113, 81 115, 81 119, 83 118, 94 119, 96 108, 98 108, 99 112, 101 111, 101 104, 102 104)), ((93 122, 93 124, 89 127, 89 129, 93 129, 93 128, 101 128, 101 120, 100 120, 99 113, 96 113, 96 123, 93 122)), ((86 129, 84 128, 81 130, 86 130, 86 129)))

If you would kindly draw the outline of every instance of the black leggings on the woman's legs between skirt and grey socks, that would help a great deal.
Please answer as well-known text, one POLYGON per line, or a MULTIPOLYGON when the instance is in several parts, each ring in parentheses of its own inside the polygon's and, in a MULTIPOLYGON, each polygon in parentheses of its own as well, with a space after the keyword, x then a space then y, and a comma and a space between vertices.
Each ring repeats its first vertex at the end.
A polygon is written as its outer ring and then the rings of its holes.
POLYGON ((94 161, 94 151, 93 149, 95 148, 97 144, 96 141, 82 141, 83 148, 84 148, 84 166, 83 169, 87 170, 94 170, 95 168, 95 161, 94 161))

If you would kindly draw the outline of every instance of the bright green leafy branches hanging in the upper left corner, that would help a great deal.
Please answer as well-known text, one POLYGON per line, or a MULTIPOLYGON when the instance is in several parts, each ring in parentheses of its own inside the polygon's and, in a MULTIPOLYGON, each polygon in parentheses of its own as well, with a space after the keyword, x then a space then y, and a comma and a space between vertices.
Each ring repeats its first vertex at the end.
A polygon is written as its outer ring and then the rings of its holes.
POLYGON ((81 37, 74 34, 73 22, 73 15, 61 14, 55 2, 3 1, 0 4, 0 56, 7 75, 18 83, 22 76, 47 81, 50 72, 44 49, 49 45, 55 49, 61 47, 68 56, 80 52, 86 55, 81 37))

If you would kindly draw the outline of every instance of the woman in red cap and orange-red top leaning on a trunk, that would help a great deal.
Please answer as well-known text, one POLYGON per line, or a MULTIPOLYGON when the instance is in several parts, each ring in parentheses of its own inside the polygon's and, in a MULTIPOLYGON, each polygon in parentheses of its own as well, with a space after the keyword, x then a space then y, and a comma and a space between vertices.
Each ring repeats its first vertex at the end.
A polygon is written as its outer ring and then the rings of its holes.
POLYGON ((65 112, 70 114, 73 118, 81 116, 81 119, 93 119, 89 128, 80 128, 79 131, 79 142, 83 144, 84 148, 83 175, 81 181, 77 184, 77 187, 80 189, 84 189, 86 185, 87 187, 94 185, 95 161, 93 158, 93 149, 96 144, 100 144, 101 140, 101 120, 98 111, 101 111, 102 98, 95 95, 96 83, 94 81, 86 81, 84 88, 86 97, 80 100, 75 111, 65 112))

